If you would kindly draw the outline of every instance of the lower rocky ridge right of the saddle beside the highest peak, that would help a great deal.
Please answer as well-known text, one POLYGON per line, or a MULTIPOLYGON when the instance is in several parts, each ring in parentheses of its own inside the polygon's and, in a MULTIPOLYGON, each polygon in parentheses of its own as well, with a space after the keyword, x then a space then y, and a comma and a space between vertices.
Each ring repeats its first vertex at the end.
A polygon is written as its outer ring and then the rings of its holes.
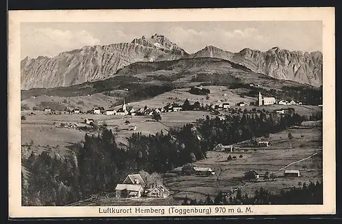
POLYGON ((268 51, 244 48, 238 53, 223 51, 215 46, 206 46, 187 57, 218 57, 228 59, 250 68, 253 72, 266 74, 276 79, 292 80, 319 87, 322 85, 323 56, 319 51, 302 53, 274 47, 268 51))

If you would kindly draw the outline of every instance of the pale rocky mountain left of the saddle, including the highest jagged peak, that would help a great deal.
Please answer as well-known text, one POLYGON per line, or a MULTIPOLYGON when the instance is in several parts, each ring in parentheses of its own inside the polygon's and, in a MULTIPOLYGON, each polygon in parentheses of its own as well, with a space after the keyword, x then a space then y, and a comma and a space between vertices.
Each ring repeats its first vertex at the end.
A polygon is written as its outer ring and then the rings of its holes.
POLYGON ((187 53, 167 38, 154 35, 131 43, 84 46, 55 57, 25 57, 21 61, 21 89, 64 87, 104 79, 136 61, 172 60, 187 53))

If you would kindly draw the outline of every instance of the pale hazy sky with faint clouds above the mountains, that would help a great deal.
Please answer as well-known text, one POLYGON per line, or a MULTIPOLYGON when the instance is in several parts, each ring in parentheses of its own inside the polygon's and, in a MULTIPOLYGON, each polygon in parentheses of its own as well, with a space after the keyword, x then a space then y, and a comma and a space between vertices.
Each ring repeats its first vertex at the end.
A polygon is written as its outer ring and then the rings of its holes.
POLYGON ((22 23, 21 59, 131 42, 155 33, 188 53, 209 45, 234 53, 243 48, 267 51, 275 46, 289 51, 322 51, 320 21, 22 23))

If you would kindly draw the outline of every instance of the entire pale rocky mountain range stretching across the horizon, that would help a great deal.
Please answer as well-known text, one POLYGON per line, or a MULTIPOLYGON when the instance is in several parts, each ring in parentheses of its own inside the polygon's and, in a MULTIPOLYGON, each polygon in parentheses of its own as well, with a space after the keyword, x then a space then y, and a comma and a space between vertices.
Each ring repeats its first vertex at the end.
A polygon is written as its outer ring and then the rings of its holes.
POLYGON ((206 46, 190 54, 165 36, 156 33, 150 38, 136 38, 130 43, 84 46, 55 57, 25 57, 21 61, 21 89, 68 87, 107 79, 136 62, 146 62, 146 65, 150 63, 152 66, 157 61, 198 61, 200 58, 225 59, 241 68, 275 79, 315 87, 322 85, 322 53, 319 51, 302 53, 274 47, 265 52, 244 48, 238 53, 232 53, 215 46, 206 46))

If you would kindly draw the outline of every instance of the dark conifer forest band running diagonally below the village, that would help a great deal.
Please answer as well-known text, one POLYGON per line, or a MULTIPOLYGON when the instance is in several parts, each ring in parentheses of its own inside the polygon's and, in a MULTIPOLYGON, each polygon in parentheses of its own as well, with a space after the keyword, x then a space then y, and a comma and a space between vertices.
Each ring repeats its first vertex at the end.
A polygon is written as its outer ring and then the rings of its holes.
POLYGON ((194 126, 171 128, 168 134, 141 132, 128 137, 126 149, 118 148, 116 135, 103 128, 86 135, 69 155, 51 157, 48 152, 23 159, 30 178, 22 182, 23 206, 62 206, 91 195, 113 191, 129 173, 141 170, 165 173, 206 157, 218 143, 232 144, 300 124, 305 118, 267 111, 235 111, 225 120, 206 117, 194 126))

